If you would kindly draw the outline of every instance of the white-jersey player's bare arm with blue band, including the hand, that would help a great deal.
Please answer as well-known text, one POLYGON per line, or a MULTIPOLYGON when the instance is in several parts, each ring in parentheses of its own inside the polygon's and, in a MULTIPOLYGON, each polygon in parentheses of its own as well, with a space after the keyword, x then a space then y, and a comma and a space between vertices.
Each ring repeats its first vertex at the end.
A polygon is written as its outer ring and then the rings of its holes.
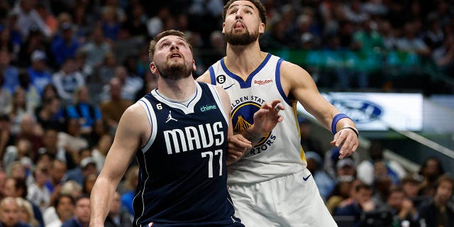
POLYGON ((351 155, 358 148, 358 129, 345 114, 341 114, 317 89, 311 75, 298 65, 282 62, 281 82, 284 92, 297 99, 325 128, 333 131, 331 145, 341 147, 339 158, 351 155), (336 117, 335 117, 336 116, 336 117))

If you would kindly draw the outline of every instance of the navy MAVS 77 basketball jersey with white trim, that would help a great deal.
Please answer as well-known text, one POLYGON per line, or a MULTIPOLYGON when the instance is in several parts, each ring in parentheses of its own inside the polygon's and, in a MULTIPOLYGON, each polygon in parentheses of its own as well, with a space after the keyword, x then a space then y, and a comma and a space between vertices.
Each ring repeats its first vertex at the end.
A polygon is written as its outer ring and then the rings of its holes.
POLYGON ((156 89, 138 101, 152 133, 136 157, 134 226, 242 226, 227 191, 228 116, 211 84, 181 104, 156 89))

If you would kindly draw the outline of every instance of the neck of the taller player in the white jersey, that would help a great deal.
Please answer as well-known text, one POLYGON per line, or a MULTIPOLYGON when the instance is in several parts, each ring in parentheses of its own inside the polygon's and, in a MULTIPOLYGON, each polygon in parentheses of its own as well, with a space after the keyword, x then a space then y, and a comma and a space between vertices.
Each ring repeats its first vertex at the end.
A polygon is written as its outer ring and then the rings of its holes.
POLYGON ((258 42, 251 45, 230 45, 227 43, 227 55, 224 59, 231 72, 246 79, 263 62, 267 53, 260 51, 258 42))

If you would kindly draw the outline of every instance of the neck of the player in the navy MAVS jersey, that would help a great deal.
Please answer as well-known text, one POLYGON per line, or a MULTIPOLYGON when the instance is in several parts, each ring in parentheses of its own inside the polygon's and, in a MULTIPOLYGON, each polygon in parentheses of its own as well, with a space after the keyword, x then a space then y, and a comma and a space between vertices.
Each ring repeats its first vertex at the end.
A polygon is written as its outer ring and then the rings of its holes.
POLYGON ((183 101, 196 92, 196 84, 192 76, 178 80, 159 77, 157 79, 157 91, 169 99, 183 101))

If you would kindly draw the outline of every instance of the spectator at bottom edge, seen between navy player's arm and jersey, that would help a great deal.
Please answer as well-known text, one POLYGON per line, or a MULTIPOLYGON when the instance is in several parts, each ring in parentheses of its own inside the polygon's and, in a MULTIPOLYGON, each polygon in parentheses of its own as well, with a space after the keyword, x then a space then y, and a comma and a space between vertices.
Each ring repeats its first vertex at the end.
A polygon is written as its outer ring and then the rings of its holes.
POLYGON ((132 227, 133 216, 121 209, 120 194, 114 192, 114 199, 111 202, 111 209, 104 221, 104 227, 132 227))

